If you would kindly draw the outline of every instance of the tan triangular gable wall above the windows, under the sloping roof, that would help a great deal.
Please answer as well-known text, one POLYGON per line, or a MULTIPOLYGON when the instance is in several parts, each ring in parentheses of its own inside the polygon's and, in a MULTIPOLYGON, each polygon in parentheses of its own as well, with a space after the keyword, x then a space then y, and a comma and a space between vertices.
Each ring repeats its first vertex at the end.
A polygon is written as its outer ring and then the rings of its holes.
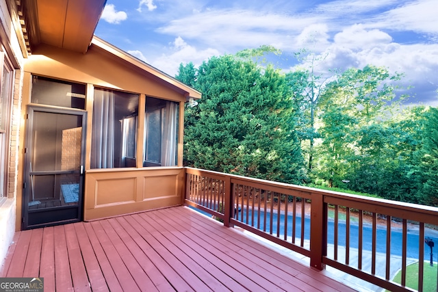
POLYGON ((185 101, 184 92, 92 44, 84 55, 41 44, 32 51, 25 70, 105 88, 185 101))

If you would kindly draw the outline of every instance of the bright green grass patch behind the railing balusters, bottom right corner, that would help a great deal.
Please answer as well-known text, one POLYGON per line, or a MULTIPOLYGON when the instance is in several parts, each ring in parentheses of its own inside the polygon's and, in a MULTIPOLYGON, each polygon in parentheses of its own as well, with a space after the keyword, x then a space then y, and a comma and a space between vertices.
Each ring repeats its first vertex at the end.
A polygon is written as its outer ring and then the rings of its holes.
MULTIPOLYGON (((402 278, 402 271, 399 271, 394 282, 400 284, 402 278)), ((406 269, 406 286, 418 290, 418 263, 409 265, 406 269)), ((437 291, 437 263, 430 267, 430 262, 424 262, 424 277, 423 277, 423 291, 435 292, 437 291)))

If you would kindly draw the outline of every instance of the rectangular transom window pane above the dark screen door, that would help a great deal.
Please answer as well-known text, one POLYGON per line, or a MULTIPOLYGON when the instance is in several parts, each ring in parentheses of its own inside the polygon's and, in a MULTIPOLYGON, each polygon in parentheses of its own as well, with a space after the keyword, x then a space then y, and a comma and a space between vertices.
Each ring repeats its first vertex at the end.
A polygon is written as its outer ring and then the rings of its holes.
POLYGON ((32 77, 31 103, 85 109, 85 93, 85 84, 32 77))

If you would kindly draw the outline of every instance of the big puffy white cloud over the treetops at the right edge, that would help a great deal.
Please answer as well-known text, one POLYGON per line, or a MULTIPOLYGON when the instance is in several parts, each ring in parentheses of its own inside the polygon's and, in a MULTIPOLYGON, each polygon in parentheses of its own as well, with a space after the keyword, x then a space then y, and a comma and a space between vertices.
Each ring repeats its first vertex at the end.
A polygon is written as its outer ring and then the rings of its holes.
POLYGON ((363 68, 368 64, 385 66, 394 74, 403 73, 400 84, 413 86, 411 102, 438 105, 438 44, 398 44, 378 29, 352 25, 339 32, 333 43, 320 54, 317 70, 321 74, 338 69, 363 68))

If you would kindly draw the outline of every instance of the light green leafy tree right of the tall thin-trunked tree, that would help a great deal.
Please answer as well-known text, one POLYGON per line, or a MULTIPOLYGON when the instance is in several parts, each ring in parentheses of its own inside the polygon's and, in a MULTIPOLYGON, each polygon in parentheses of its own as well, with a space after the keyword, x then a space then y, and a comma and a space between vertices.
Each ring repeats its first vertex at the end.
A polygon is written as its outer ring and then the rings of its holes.
POLYGON ((382 165, 394 158, 395 143, 385 120, 398 79, 400 75, 390 75, 386 68, 365 66, 350 68, 326 85, 320 101, 317 173, 329 185, 372 194, 383 189, 382 165))

